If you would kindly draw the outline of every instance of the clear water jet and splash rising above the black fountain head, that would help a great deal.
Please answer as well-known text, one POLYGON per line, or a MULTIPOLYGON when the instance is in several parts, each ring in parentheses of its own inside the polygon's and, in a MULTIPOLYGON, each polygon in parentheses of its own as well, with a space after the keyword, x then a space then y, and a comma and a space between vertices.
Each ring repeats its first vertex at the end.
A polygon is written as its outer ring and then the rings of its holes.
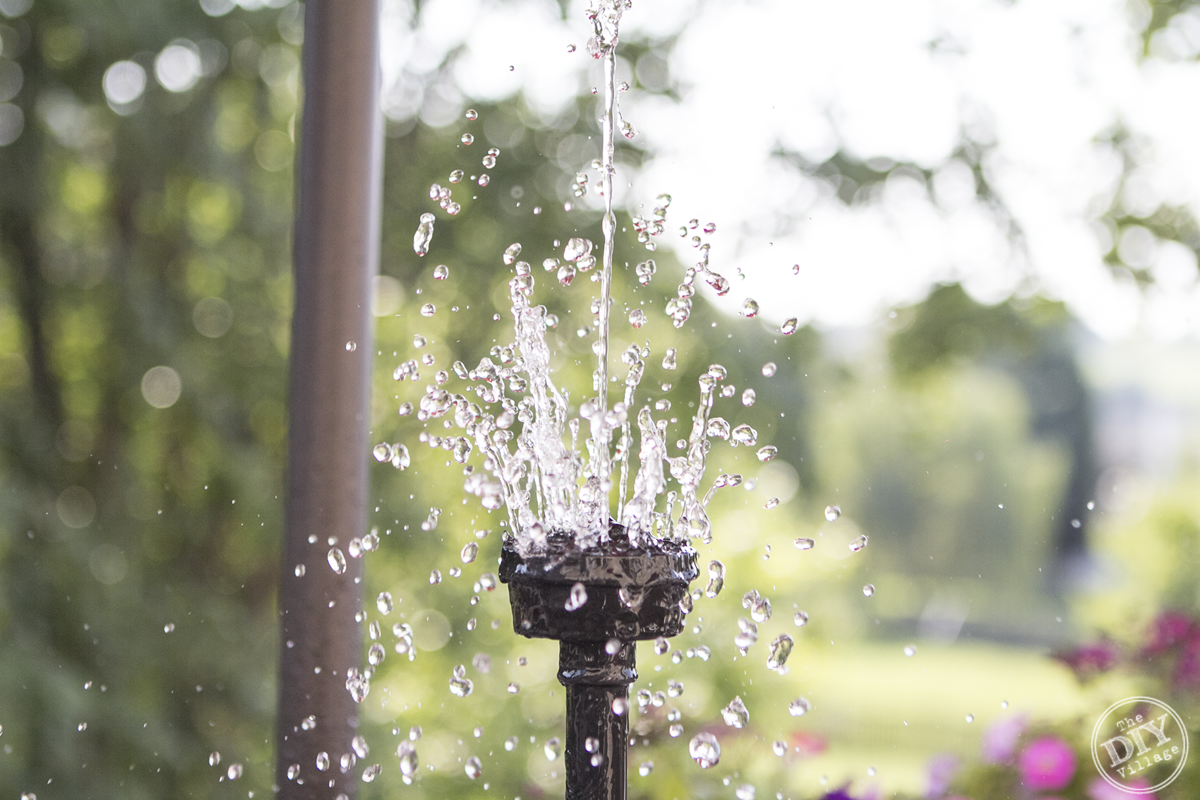
MULTIPOLYGON (((617 103, 619 92, 616 82, 616 49, 620 18, 629 7, 629 0, 593 0, 587 10, 588 19, 593 23, 593 36, 588 41, 587 52, 602 60, 605 77, 600 119, 601 157, 593 163, 600 173, 596 193, 604 198, 604 244, 600 257, 596 258, 589 239, 577 235, 566 240, 562 261, 556 257, 542 262, 545 270, 552 273, 564 286, 570 285, 577 273, 598 268, 593 275, 600 283, 600 297, 593 304, 596 332, 593 345, 596 354, 593 396, 587 396, 578 404, 578 417, 568 418, 568 393, 559 390, 551 377, 550 347, 546 342, 551 320, 545 306, 532 304, 535 280, 529 264, 517 261, 522 251, 521 244, 512 243, 504 250, 502 262, 515 273, 509 282, 514 342, 508 347, 492 348, 492 358, 482 358, 473 370, 464 366, 460 369, 458 364, 454 370, 457 377, 475 382, 472 390, 482 405, 468 400, 466 394, 452 394, 430 386, 416 414, 422 422, 452 414, 452 423, 463 430, 464 436, 426 436, 422 441, 452 450, 460 464, 466 464, 472 452, 484 459, 487 472, 469 473, 464 489, 479 497, 486 509, 505 509, 516 547, 526 556, 542 551, 550 535, 557 532, 570 532, 582 548, 596 547, 607 541, 613 524, 625 526, 634 547, 654 538, 692 537, 710 543, 712 525, 704 506, 712 492, 703 500, 697 496, 710 448, 709 437, 730 441, 734 447, 755 447, 757 443, 757 431, 749 425, 732 426, 721 418, 709 419, 716 392, 727 374, 719 364, 710 365, 697 381, 700 402, 691 434, 686 440, 680 440, 683 455, 671 458, 667 454, 664 438, 666 420, 654 419, 648 404, 637 407, 636 392, 646 370, 646 359, 650 357, 649 345, 631 345, 620 354, 622 364, 626 368, 624 394, 616 402, 610 402, 610 370, 613 366, 610 358, 612 264, 617 228, 613 213, 616 135, 620 130, 626 137, 634 136, 632 125, 622 119, 617 103), (497 357, 499 363, 493 360, 497 357), (506 388, 514 394, 523 392, 526 396, 517 401, 506 395, 506 388), (496 408, 497 405, 499 408, 496 408), (520 429, 514 429, 514 423, 520 423, 520 429), (584 423, 588 435, 580 449, 577 436, 584 423), (630 480, 635 428, 640 441, 638 464, 636 474, 630 480), (571 434, 571 448, 563 441, 568 429, 571 434), (666 490, 668 478, 679 485, 679 490, 667 492, 666 509, 659 511, 659 496, 666 490), (616 509, 611 505, 613 494, 616 509)), ((462 141, 469 144, 473 138, 463 135, 462 141)), ((485 166, 498 155, 493 150, 488 150, 485 166)), ((576 180, 580 192, 586 191, 587 185, 587 175, 581 175, 583 180, 576 180)), ((451 175, 451 183, 457 183, 454 178, 451 175)), ((462 179, 461 175, 457 178, 462 179)), ((449 197, 449 189, 437 184, 431 186, 431 199, 443 204, 449 197)), ((648 219, 634 217, 638 240, 647 249, 653 250, 652 237, 664 232, 670 205, 670 195, 660 195, 648 219)), ((449 210, 446 205, 443 208, 449 210)), ((698 222, 691 227, 697 225, 698 222)), ((413 239, 413 249, 420 256, 428 252, 433 226, 433 215, 422 214, 413 239)), ((704 233, 712 234, 715 229, 709 223, 704 227, 704 233)), ((700 250, 700 259, 686 269, 677 297, 667 305, 676 327, 683 326, 690 316, 696 277, 701 277, 718 294, 730 291, 728 279, 709 267, 709 245, 702 244, 698 237, 694 238, 692 244, 700 250)), ((635 271, 640 282, 648 285, 656 265, 653 259, 647 259, 637 264, 635 271)), ((434 268, 434 279, 444 280, 448 275, 449 270, 444 265, 434 268)), ((420 309, 422 316, 433 316, 436 312, 432 303, 426 303, 420 309)), ((744 314, 755 316, 757 303, 746 300, 744 314)), ((634 328, 642 327, 647 322, 646 312, 634 309, 629 314, 629 322, 634 328)), ((581 328, 581 335, 588 335, 590 330, 590 327, 581 328)), ((666 350, 662 368, 676 369, 673 348, 666 350)), ((415 360, 406 362, 396 369, 394 377, 416 380, 416 370, 415 360)), ((445 371, 439 371, 436 377, 438 386, 450 380, 445 371)), ((732 394, 733 388, 726 387, 722 396, 732 394)), ((754 392, 744 392, 743 404, 752 402, 754 392)), ((656 410, 668 411, 670 405, 660 401, 656 410)), ((404 416, 403 407, 401 416, 404 416)), ((757 455, 761 461, 769 461, 775 452, 775 448, 768 446, 761 448, 757 455)), ((391 461, 397 468, 404 468, 410 462, 407 448, 402 444, 382 443, 376 447, 374 456, 380 461, 391 461)), ((737 483, 740 483, 740 476, 736 477, 737 483)), ((737 483, 726 482, 722 485, 737 483)), ((436 525, 437 517, 431 515, 421 527, 430 531, 436 525)), ((466 557, 463 560, 467 561, 466 557)), ((436 580, 431 578, 431 583, 436 580)), ((720 591, 722 583, 720 577, 710 580, 710 597, 720 591)))

